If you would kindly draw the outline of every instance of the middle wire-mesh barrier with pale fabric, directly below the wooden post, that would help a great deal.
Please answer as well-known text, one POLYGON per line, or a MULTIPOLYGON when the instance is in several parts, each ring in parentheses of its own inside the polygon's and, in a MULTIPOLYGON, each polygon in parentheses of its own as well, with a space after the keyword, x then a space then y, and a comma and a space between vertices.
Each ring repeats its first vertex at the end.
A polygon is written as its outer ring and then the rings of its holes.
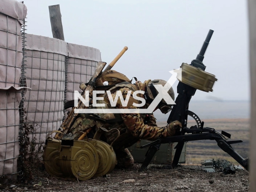
POLYGON ((44 143, 46 135, 57 130, 64 116, 66 42, 27 35, 27 86, 24 110, 26 123, 35 128, 31 138, 44 143))

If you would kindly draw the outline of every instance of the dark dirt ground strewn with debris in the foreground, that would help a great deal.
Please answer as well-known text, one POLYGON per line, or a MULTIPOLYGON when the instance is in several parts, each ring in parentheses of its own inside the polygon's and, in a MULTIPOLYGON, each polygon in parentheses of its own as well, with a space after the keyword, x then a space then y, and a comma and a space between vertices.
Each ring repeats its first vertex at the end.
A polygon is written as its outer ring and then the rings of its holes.
POLYGON ((110 177, 92 178, 87 181, 52 178, 46 171, 36 171, 30 184, 6 183, 0 191, 30 192, 243 192, 249 190, 248 172, 224 175, 207 173, 201 166, 181 166, 163 169, 151 164, 140 172, 141 164, 129 170, 115 169, 110 177), (130 180, 130 182, 125 181, 130 180), (213 183, 212 183, 213 182, 213 183))

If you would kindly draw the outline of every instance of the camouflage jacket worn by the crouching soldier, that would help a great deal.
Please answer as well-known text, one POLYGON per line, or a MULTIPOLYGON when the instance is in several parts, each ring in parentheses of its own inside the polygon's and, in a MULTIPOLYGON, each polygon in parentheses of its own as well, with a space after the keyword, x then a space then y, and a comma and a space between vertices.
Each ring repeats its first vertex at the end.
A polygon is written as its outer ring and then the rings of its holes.
MULTIPOLYGON (((122 96, 124 100, 126 99, 128 91, 132 91, 130 94, 130 98, 126 107, 123 107, 120 99, 118 98, 116 108, 125 108, 125 109, 136 109, 133 106, 133 102, 139 103, 138 100, 132 97, 132 94, 136 90, 141 90, 141 86, 138 82, 136 85, 126 84, 126 85, 117 85, 114 88, 111 88, 111 95, 114 100, 116 97, 117 91, 122 92, 122 96)), ((110 102, 107 94, 103 95, 104 100, 98 100, 99 102, 105 103, 107 108, 112 108, 110 106, 110 102)), ((143 97, 143 95, 141 95, 143 97)), ((91 118, 86 118, 88 115, 80 114, 80 117, 76 120, 74 125, 71 128, 71 132, 74 134, 77 131, 84 131, 88 128, 93 127, 92 133, 98 129, 98 127, 106 128, 107 130, 111 130, 112 128, 117 128, 120 131, 120 137, 114 142, 114 148, 127 148, 137 142, 140 139, 146 140, 156 140, 158 137, 166 137, 172 136, 168 133, 167 127, 158 127, 156 125, 156 118, 153 114, 93 114, 90 116, 97 116, 102 119, 113 119, 113 118, 122 118, 122 122, 116 123, 104 123, 97 120, 92 120, 91 118)), ((80 132, 76 133, 77 137, 81 134, 80 132)), ((113 132, 105 133, 106 142, 109 144, 112 143, 116 137, 118 136, 117 132, 113 130, 113 132)))

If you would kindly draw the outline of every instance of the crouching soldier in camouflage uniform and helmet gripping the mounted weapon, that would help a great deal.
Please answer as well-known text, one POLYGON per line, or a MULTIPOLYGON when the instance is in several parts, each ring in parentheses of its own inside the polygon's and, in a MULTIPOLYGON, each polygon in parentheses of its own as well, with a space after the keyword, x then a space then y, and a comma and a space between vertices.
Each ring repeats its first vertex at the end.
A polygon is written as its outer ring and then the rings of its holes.
MULTIPOLYGON (((145 94, 138 95, 146 100, 146 105, 142 108, 147 108, 154 99, 154 84, 162 84, 164 86, 166 84, 166 81, 146 80, 144 83, 136 81, 135 84, 117 84, 109 90, 111 92, 113 100, 116 97, 118 90, 122 92, 124 100, 126 99, 128 91, 132 91, 126 107, 122 106, 120 98, 118 98, 116 108, 126 109, 136 109, 136 107, 132 104, 139 104, 140 102, 133 98, 132 94, 136 90, 142 90, 145 92, 145 94)), ((157 93, 158 92, 156 91, 155 94, 157 93)), ((170 88, 168 94, 174 100, 174 91, 172 88, 170 88)), ((102 96, 104 97, 104 100, 98 100, 98 102, 104 103, 106 108, 113 108, 110 105, 108 95, 105 93, 102 96)), ((171 105, 166 104, 166 102, 162 100, 160 104, 158 104, 158 107, 156 109, 159 108, 162 113, 167 113, 171 110, 171 107, 171 105)), ((114 151, 116 152, 118 166, 128 168, 133 166, 134 164, 134 159, 128 151, 128 147, 132 146, 140 139, 156 140, 159 137, 173 136, 176 130, 179 130, 182 127, 182 124, 178 121, 174 121, 165 127, 158 127, 156 125, 156 118, 153 114, 80 114, 80 117, 77 118, 70 131, 72 134, 74 134, 77 131, 86 131, 89 128, 92 128, 90 134, 88 134, 88 137, 93 137, 99 127, 106 128, 107 130, 111 130, 112 128, 117 128, 119 130, 120 137, 118 137, 117 139, 116 137, 118 136, 118 133, 113 130, 112 132, 106 132, 104 136, 101 137, 101 140, 107 142, 108 144, 111 144, 116 139, 112 146, 114 148, 114 151), (100 119, 120 119, 120 121, 109 123, 101 121, 100 119)), ((77 132, 76 137, 79 137, 80 134, 80 132, 77 132)))

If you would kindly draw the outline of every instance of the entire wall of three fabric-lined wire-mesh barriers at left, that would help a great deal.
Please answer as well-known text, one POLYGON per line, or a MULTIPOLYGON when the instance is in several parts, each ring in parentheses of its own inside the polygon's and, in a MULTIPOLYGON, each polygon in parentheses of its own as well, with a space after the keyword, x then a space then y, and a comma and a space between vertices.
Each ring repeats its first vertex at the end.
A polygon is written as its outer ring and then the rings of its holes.
POLYGON ((43 144, 101 57, 96 48, 26 34, 27 8, 16 0, 1 0, 0 7, 0 176, 16 177, 28 150, 22 147, 24 125, 34 127, 30 139, 43 144))

